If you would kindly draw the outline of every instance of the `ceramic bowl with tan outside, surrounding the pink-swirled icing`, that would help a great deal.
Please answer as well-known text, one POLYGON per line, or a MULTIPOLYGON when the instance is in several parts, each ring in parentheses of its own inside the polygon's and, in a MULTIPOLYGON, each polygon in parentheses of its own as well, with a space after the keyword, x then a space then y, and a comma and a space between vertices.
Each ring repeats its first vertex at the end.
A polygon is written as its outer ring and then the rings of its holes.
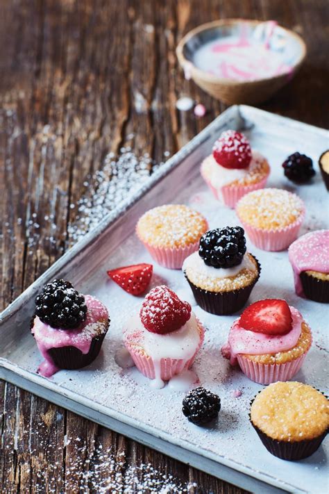
MULTIPOLYGON (((231 38, 232 39, 232 38, 231 38)), ((193 79, 205 92, 226 104, 257 104, 269 99, 282 88, 301 67, 306 56, 302 38, 276 22, 245 19, 223 19, 203 24, 189 31, 176 49, 179 63, 187 79, 193 79), (284 64, 282 72, 261 79, 237 80, 234 76, 221 77, 196 66, 196 52, 208 42, 229 37, 244 37, 258 44, 265 44, 269 56, 280 56, 284 64)), ((231 75, 231 74, 230 74, 231 75)))

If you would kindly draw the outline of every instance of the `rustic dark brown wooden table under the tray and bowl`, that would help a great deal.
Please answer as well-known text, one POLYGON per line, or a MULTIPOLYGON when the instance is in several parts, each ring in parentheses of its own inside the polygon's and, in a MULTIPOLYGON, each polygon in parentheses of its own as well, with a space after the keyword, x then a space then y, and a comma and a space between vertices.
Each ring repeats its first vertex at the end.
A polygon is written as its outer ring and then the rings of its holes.
MULTIPOLYGON (((90 208, 77 204, 97 186, 106 154, 130 146, 160 162, 225 108, 178 68, 175 47, 190 28, 219 17, 293 28, 307 60, 262 108, 329 126, 327 0, 2 0, 0 8, 2 308, 88 228, 90 208), (205 104, 205 117, 178 113, 185 94, 205 104)), ((159 492, 171 474, 173 492, 180 484, 242 493, 5 382, 0 413, 1 492, 159 492)))

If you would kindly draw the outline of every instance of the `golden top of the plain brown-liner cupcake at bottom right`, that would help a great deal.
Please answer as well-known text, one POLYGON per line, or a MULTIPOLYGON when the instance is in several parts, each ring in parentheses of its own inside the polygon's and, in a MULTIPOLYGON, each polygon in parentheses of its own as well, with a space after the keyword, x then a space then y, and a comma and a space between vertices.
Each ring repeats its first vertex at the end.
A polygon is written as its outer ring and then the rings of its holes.
POLYGON ((303 441, 329 427, 329 403, 319 391, 296 381, 264 388, 251 405, 251 422, 277 441, 303 441))

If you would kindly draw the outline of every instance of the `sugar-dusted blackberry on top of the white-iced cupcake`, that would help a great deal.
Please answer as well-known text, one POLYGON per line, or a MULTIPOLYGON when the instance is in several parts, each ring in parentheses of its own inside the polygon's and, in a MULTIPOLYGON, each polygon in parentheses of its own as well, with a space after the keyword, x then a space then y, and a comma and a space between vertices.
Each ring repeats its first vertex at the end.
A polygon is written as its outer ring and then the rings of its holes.
POLYGON ((212 267, 233 267, 241 264, 246 252, 246 238, 241 227, 209 230, 200 239, 199 256, 212 267))

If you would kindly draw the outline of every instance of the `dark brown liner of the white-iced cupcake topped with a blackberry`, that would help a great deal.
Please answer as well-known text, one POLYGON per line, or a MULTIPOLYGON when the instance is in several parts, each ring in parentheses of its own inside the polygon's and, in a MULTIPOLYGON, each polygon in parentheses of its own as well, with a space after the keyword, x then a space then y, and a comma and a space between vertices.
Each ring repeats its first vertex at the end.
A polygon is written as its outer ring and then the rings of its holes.
POLYGON ((199 286, 194 285, 192 281, 189 281, 184 273, 185 278, 192 289, 196 303, 203 308, 203 311, 215 315, 230 315, 238 312, 246 304, 249 295, 251 294, 251 290, 253 290, 253 287, 260 277, 260 263, 255 256, 253 256, 253 258, 258 266, 258 277, 250 285, 229 292, 209 292, 208 290, 203 290, 203 288, 199 288, 199 286))

